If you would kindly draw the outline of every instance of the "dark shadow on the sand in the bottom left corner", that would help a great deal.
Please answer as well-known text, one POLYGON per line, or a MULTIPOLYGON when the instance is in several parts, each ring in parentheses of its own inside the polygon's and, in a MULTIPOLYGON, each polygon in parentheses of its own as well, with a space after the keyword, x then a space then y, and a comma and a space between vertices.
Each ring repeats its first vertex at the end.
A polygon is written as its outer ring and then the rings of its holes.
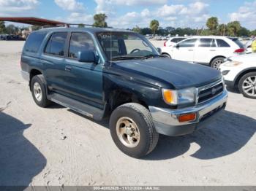
POLYGON ((45 168, 45 157, 23 136, 30 126, 0 112, 0 186, 28 186, 45 168))

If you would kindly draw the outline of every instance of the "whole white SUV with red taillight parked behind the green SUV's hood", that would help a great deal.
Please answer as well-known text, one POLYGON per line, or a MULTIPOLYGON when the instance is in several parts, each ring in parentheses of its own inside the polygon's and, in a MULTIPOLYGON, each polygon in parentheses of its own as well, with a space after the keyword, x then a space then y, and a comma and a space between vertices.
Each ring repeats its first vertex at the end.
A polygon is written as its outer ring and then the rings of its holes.
POLYGON ((244 45, 237 38, 226 36, 193 36, 161 50, 166 57, 207 64, 215 69, 225 58, 245 52, 244 45))

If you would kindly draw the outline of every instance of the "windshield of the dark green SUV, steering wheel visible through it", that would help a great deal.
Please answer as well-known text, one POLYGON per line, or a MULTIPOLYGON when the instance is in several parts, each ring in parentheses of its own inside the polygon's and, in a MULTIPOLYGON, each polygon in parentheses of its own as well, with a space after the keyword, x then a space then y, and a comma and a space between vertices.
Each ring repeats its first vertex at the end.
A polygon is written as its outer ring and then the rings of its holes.
POLYGON ((146 38, 125 32, 102 32, 97 34, 99 43, 108 60, 146 58, 159 56, 159 52, 146 38))

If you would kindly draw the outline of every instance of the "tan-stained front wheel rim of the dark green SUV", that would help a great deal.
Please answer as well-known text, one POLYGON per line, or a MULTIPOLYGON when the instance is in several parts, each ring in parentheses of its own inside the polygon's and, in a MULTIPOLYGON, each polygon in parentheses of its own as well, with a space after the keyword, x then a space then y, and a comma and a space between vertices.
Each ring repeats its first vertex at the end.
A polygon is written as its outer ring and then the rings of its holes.
POLYGON ((121 117, 116 122, 116 134, 119 141, 129 148, 137 147, 140 142, 138 125, 129 117, 121 117))

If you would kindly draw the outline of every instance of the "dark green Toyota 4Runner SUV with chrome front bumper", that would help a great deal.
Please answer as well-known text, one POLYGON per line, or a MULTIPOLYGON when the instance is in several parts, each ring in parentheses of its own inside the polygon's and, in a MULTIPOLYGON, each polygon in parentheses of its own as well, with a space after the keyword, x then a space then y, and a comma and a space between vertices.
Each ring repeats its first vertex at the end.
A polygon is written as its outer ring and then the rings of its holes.
POLYGON ((159 133, 192 133, 225 109, 219 71, 171 60, 146 38, 111 28, 48 28, 29 35, 20 61, 35 103, 110 117, 116 146, 143 157, 159 133))

